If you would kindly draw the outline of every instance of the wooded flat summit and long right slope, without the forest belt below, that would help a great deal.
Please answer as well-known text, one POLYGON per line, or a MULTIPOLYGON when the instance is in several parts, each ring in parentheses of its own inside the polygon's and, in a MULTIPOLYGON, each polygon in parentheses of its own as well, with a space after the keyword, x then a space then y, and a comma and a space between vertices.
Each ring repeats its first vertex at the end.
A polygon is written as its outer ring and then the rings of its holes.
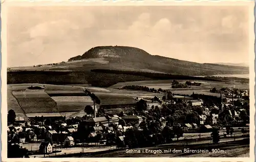
MULTIPOLYGON (((172 53, 172 51, 170 51, 172 53)), ((69 59, 68 62, 77 60, 101 58, 108 64, 97 63, 97 68, 113 70, 148 70, 174 75, 216 75, 216 74, 249 74, 248 67, 230 66, 212 63, 196 63, 178 60, 158 55, 150 55, 146 51, 126 46, 102 46, 94 47, 83 55, 69 59), (102 67, 101 67, 102 66, 102 67)), ((84 65, 87 66, 87 65, 84 65)), ((93 69, 95 63, 90 65, 93 69)), ((88 65, 89 67, 89 65, 88 65)), ((86 68, 86 67, 84 67, 86 68)))

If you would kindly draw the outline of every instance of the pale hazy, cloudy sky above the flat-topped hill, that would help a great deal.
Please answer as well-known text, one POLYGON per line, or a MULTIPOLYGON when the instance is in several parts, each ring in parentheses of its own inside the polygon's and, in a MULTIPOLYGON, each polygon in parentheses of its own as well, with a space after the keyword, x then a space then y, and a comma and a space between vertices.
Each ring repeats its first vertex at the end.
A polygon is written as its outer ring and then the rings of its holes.
POLYGON ((246 6, 10 7, 7 66, 67 61, 124 45, 199 63, 248 62, 246 6))

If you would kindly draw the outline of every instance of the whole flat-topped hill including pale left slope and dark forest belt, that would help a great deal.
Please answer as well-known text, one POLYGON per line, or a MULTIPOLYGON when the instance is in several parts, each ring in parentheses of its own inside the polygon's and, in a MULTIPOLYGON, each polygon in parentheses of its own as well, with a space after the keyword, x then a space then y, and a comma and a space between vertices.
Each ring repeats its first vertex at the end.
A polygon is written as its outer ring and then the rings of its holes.
POLYGON ((153 56, 133 47, 106 46, 92 48, 67 62, 8 68, 7 83, 90 84, 108 87, 118 82, 141 80, 216 80, 190 77, 216 74, 249 74, 249 68, 202 64, 153 56))

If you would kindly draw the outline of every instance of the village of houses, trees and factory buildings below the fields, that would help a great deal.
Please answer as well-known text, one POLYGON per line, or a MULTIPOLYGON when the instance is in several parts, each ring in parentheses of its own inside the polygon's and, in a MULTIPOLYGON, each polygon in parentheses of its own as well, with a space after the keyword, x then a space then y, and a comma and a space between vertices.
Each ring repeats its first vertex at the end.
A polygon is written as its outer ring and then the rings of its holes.
POLYGON ((84 105, 82 117, 35 116, 27 121, 10 110, 8 115, 15 118, 8 121, 8 154, 23 149, 24 157, 48 157, 198 139, 219 143, 249 136, 248 90, 215 89, 220 98, 156 91, 165 95, 136 97, 135 104, 128 105, 101 107, 94 98, 92 105, 84 105), (133 111, 107 112, 107 108, 119 106, 133 111))

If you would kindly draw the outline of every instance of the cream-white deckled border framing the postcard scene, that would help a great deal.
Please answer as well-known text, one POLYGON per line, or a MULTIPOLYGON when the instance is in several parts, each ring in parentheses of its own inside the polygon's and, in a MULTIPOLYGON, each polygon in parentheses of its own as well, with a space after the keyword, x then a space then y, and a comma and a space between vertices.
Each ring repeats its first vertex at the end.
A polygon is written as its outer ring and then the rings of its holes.
MULTIPOLYGON (((147 0, 63 0, 63 1, 4 1, 2 0, 2 161, 254 161, 254 2, 253 1, 147 1, 147 0), (151 158, 7 158, 7 8, 9 6, 248 6, 249 18, 249 57, 250 57, 250 157, 151 157, 151 158)), ((21 18, 22 20, 22 18, 21 18)))

